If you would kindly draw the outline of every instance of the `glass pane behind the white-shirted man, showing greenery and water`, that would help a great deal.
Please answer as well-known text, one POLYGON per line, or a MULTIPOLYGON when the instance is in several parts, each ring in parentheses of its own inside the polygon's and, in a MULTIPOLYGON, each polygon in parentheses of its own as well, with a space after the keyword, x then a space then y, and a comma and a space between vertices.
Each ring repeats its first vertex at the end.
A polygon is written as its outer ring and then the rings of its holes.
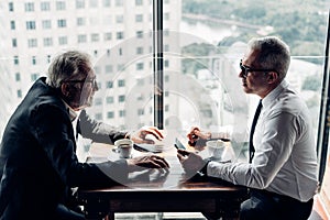
POLYGON ((177 2, 182 10, 170 13, 172 6, 165 3, 164 29, 172 30, 164 40, 165 76, 169 77, 166 127, 183 133, 193 125, 211 132, 232 131, 237 156, 245 160, 258 98, 243 92, 239 62, 251 37, 277 35, 290 46, 287 80, 310 109, 317 134, 326 6, 326 1, 304 1, 302 6, 298 1, 183 0, 177 2))

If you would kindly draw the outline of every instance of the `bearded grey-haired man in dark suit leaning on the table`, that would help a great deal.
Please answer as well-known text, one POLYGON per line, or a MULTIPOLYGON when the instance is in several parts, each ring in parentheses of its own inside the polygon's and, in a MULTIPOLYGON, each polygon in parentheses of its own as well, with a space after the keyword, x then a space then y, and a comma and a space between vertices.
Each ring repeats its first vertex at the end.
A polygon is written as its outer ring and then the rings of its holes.
POLYGON ((102 187, 124 183, 128 173, 166 168, 167 162, 150 155, 99 164, 79 163, 76 132, 97 142, 131 139, 146 143, 146 134, 163 139, 156 128, 130 134, 91 120, 86 107, 98 90, 87 54, 69 51, 55 57, 48 77, 41 77, 19 105, 0 145, 0 219, 84 219, 76 211, 73 187, 102 187))

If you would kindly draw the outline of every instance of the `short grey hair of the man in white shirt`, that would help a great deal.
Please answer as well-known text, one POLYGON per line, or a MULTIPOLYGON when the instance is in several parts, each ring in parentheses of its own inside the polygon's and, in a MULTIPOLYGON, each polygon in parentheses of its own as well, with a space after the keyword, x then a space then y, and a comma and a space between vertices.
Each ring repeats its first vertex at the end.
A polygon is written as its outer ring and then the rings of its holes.
POLYGON ((248 46, 258 51, 256 61, 261 68, 277 70, 280 80, 285 78, 290 65, 290 52, 286 43, 276 36, 252 38, 248 46))

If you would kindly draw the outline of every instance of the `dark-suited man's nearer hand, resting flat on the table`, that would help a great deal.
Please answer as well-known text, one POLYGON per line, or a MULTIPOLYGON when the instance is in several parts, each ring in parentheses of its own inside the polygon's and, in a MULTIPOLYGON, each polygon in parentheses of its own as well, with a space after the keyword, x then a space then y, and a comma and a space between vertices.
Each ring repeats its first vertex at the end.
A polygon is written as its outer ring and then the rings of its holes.
POLYGON ((129 172, 139 172, 145 168, 169 168, 164 157, 157 155, 139 156, 128 160, 129 172))

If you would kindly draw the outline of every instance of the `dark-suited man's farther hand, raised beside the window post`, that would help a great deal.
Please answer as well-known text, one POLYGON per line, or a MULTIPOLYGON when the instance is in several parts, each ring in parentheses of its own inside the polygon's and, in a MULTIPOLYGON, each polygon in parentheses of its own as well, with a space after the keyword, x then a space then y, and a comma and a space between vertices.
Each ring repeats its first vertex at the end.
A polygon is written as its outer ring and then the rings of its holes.
POLYGON ((147 134, 151 134, 156 140, 162 141, 164 139, 162 132, 155 127, 142 127, 140 130, 133 132, 130 139, 138 144, 145 143, 145 144, 154 144, 154 140, 145 139, 147 134))

